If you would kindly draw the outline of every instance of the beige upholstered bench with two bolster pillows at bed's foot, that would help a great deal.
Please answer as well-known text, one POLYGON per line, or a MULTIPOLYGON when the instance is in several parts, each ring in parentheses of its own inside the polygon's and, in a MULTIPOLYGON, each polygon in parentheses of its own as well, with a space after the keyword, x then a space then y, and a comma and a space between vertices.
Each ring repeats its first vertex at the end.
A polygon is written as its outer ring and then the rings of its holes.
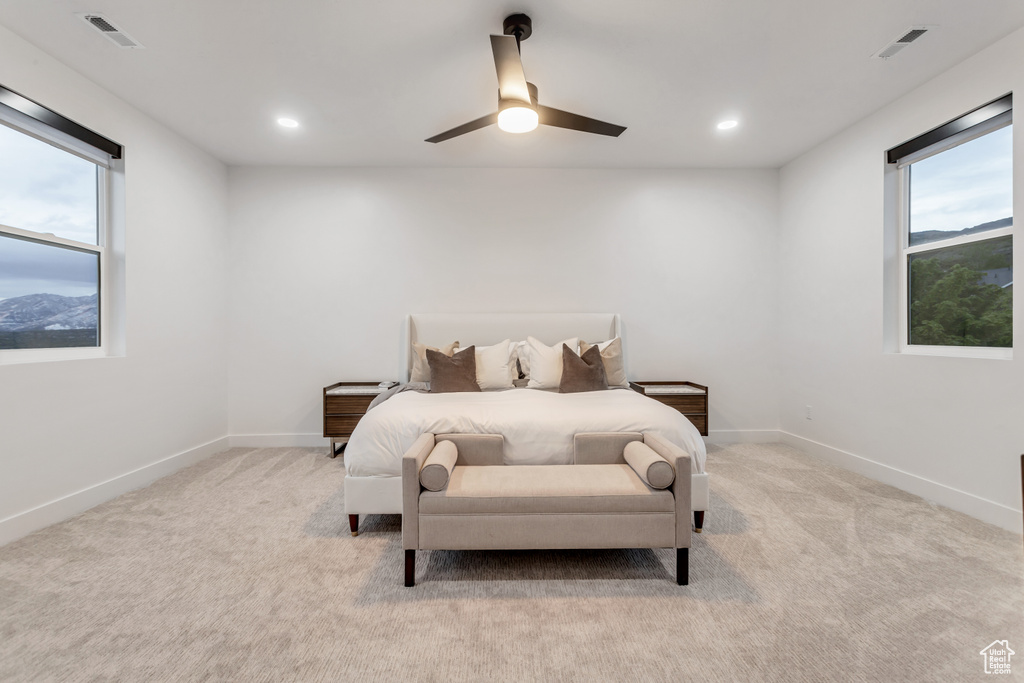
POLYGON ((651 433, 575 436, 572 465, 504 465, 497 434, 423 434, 402 459, 406 586, 417 550, 675 548, 689 581, 690 459, 651 433))

